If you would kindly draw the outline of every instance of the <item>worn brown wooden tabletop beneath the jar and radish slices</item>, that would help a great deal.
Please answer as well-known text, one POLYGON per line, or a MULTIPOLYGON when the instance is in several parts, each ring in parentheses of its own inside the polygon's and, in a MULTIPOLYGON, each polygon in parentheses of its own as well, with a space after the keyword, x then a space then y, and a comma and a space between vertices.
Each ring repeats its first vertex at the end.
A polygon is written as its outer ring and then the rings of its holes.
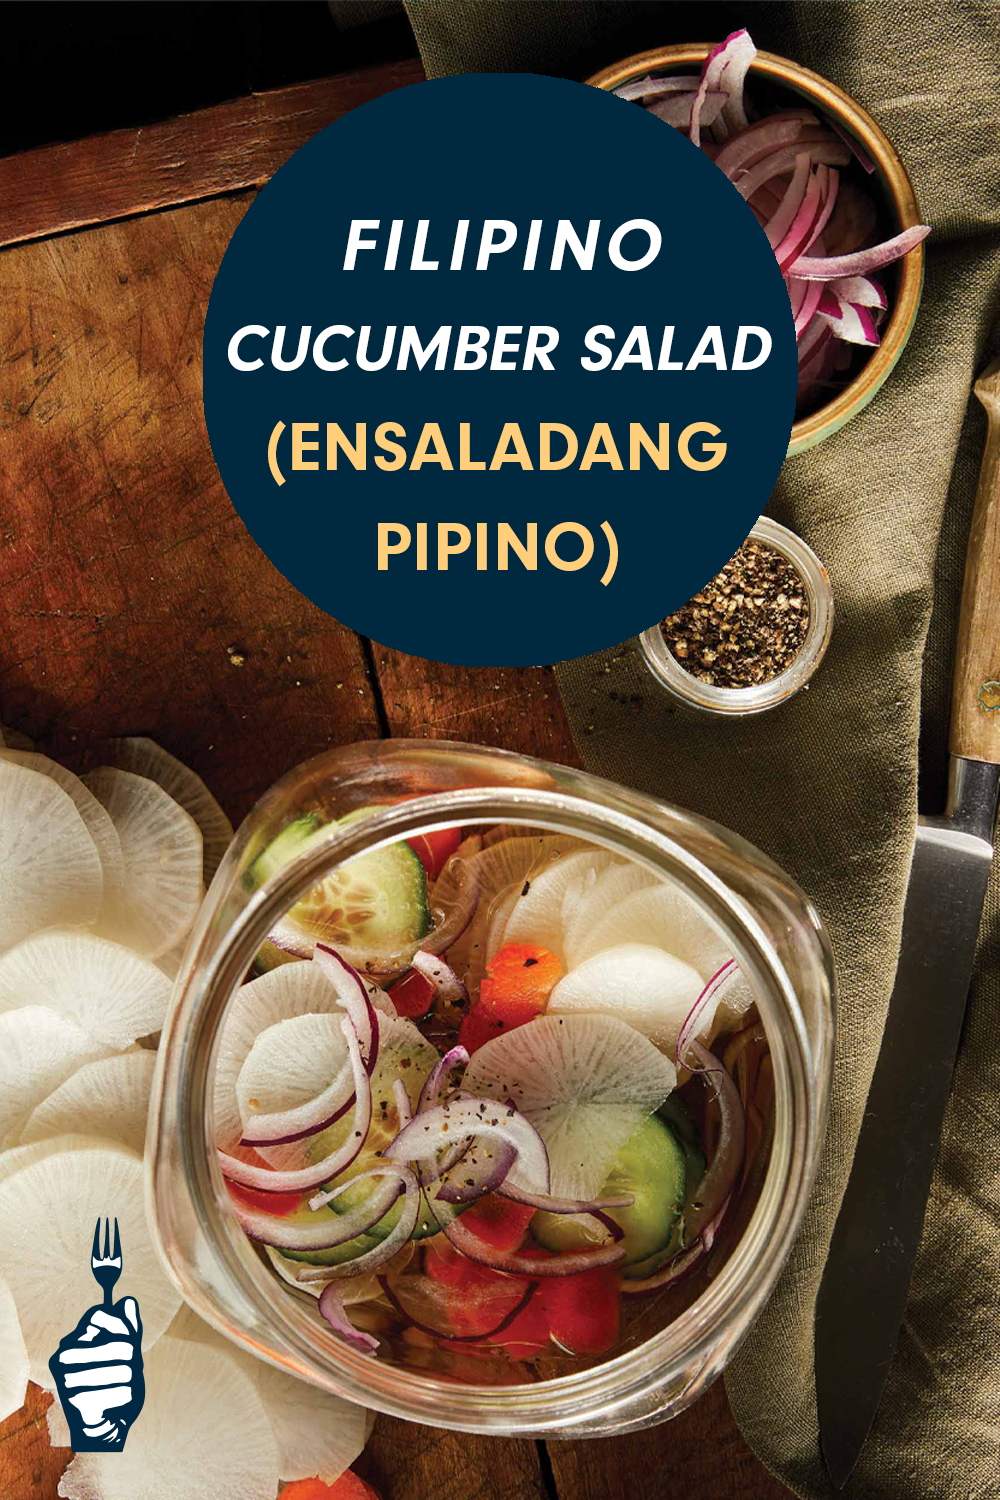
MULTIPOLYGON (((255 188, 420 78, 399 63, 0 162, 0 720, 66 764, 150 734, 238 820, 352 740, 577 762, 550 672, 424 662, 315 609, 250 540, 208 447, 204 314, 255 188)), ((48 1446, 48 1401, 31 1388, 0 1426, 3 1500, 55 1500, 69 1454, 48 1446)), ((385 1500, 790 1500, 721 1383, 667 1426, 591 1443, 379 1418, 361 1468, 385 1500)))

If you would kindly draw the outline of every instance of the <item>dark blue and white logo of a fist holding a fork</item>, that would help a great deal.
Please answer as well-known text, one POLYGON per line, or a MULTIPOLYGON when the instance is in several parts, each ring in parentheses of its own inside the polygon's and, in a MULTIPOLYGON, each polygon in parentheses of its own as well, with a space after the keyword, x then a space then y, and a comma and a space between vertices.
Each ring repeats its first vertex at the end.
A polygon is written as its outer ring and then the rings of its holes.
POLYGON ((114 1250, 105 1220, 103 1254, 100 1220, 94 1230, 90 1260, 94 1280, 103 1288, 103 1304, 88 1308, 72 1334, 61 1340, 48 1362, 76 1454, 115 1454, 124 1448, 132 1424, 145 1401, 142 1378, 142 1323, 135 1298, 112 1302, 121 1275, 118 1221, 114 1250))

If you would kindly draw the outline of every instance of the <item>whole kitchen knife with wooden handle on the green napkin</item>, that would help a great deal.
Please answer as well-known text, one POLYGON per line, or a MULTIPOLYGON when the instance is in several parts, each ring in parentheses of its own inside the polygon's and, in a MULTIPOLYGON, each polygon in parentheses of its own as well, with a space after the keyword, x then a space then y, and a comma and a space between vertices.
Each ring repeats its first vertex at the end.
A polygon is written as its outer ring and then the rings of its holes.
POLYGON ((958 1056, 1000 789, 1000 360, 976 381, 987 452, 966 555, 948 806, 921 818, 900 964, 816 1304, 820 1448, 847 1484, 882 1400, 958 1056))

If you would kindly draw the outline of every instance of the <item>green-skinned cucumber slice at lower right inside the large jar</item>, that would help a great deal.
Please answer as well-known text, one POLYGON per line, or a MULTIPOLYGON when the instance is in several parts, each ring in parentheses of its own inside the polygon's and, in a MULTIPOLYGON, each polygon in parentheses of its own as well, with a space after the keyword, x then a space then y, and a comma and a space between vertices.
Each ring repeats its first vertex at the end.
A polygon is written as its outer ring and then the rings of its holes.
MULTIPOLYGON (((624 1266, 661 1256, 675 1238, 687 1185, 684 1150, 673 1131, 651 1114, 618 1152, 600 1196, 634 1194, 631 1208, 615 1209, 624 1230, 624 1266)), ((600 1224, 582 1214, 535 1214, 531 1233, 546 1250, 585 1250, 603 1244, 600 1224)))

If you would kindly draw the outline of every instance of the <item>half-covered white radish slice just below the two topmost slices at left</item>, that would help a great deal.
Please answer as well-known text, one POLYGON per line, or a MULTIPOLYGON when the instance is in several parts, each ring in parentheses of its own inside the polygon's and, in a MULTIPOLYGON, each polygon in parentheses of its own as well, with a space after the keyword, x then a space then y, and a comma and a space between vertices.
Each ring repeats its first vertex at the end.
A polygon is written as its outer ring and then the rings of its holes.
POLYGON ((0 957, 0 1011, 45 1005, 117 1050, 160 1029, 169 993, 153 963, 91 932, 51 927, 0 957))

